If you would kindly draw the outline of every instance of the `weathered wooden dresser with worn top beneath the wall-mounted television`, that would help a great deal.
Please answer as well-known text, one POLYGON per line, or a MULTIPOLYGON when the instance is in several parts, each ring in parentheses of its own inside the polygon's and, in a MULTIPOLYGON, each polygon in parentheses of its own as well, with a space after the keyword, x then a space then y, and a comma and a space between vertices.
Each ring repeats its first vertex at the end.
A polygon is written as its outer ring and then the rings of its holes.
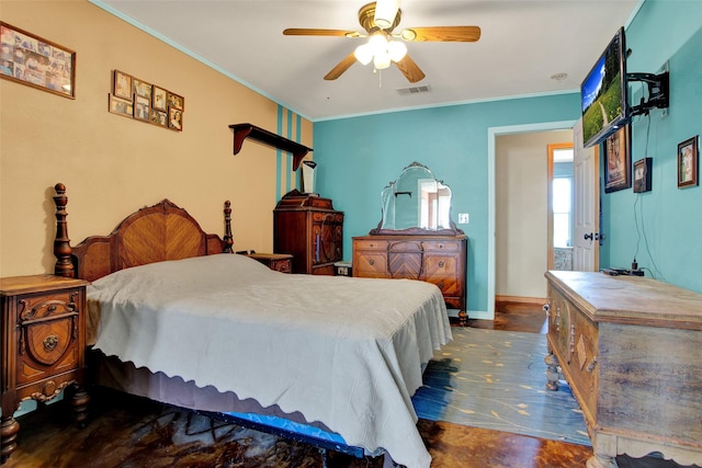
POLYGON ((702 295, 638 276, 547 272, 547 387, 570 384, 588 468, 661 453, 702 466, 702 295))

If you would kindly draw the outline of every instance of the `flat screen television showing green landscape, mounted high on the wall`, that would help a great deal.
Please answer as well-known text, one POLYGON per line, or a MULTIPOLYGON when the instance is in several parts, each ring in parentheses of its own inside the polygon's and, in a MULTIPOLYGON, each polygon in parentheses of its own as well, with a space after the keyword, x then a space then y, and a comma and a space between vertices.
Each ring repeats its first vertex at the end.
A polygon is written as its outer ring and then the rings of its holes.
POLYGON ((626 45, 621 27, 580 84, 582 145, 597 145, 629 122, 626 45))

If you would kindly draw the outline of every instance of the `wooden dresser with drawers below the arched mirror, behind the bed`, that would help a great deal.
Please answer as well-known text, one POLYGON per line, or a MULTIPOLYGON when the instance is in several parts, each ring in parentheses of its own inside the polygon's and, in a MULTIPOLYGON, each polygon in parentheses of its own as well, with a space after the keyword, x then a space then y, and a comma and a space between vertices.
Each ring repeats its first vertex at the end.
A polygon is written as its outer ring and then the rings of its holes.
POLYGON ((446 307, 465 316, 467 238, 372 235, 353 238, 353 276, 409 278, 439 286, 446 307))

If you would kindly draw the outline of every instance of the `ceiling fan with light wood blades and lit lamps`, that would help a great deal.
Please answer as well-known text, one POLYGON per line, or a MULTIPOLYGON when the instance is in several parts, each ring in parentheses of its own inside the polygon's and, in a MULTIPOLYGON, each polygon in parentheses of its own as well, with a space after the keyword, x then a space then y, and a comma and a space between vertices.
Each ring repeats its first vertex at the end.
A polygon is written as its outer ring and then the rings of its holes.
POLYGON ((355 61, 367 65, 373 61, 375 69, 381 70, 395 64, 410 83, 424 78, 424 72, 407 54, 404 42, 476 42, 480 38, 478 26, 433 26, 410 27, 400 33, 393 33, 400 22, 400 0, 377 0, 361 7, 359 23, 365 33, 343 30, 287 28, 286 36, 339 36, 349 38, 367 37, 365 44, 343 58, 326 76, 325 80, 336 80, 355 61), (396 41, 399 39, 399 41, 396 41))

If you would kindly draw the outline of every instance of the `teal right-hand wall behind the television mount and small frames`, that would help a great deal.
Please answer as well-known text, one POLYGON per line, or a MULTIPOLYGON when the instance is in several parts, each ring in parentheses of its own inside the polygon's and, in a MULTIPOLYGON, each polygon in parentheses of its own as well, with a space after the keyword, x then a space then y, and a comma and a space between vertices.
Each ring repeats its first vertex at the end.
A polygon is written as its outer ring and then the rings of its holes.
MULTIPOLYGON (((602 194, 603 266, 629 267, 702 293, 702 187, 678 189, 678 144, 702 133, 702 1, 647 0, 626 28, 629 72, 657 73, 668 61, 668 115, 632 122, 632 162, 653 158, 653 190, 602 194)), ((632 104, 643 93, 631 83, 632 104)))

